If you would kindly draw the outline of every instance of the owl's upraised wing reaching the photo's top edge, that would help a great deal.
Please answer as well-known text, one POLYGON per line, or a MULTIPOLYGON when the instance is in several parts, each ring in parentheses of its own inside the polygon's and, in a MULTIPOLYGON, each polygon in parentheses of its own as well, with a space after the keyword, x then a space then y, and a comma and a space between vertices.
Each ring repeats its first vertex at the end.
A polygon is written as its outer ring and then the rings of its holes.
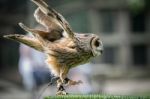
POLYGON ((51 35, 54 31, 58 36, 63 35, 64 37, 74 38, 70 25, 61 14, 48 6, 43 0, 32 0, 32 2, 38 6, 34 13, 35 19, 46 27, 48 32, 52 32, 51 35))

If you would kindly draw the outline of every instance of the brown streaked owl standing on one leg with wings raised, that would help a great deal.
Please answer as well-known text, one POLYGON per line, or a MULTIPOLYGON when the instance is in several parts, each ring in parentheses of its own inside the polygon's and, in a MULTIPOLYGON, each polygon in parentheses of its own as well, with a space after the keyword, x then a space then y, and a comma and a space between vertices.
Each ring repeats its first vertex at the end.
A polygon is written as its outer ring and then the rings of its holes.
POLYGON ((69 70, 101 55, 102 41, 95 34, 73 32, 65 18, 44 1, 31 1, 37 5, 34 18, 45 27, 45 30, 32 29, 19 23, 22 29, 33 36, 10 34, 4 37, 45 53, 49 69, 55 77, 58 77, 56 95, 66 95, 64 86, 82 83, 81 80, 74 81, 67 78, 69 70))

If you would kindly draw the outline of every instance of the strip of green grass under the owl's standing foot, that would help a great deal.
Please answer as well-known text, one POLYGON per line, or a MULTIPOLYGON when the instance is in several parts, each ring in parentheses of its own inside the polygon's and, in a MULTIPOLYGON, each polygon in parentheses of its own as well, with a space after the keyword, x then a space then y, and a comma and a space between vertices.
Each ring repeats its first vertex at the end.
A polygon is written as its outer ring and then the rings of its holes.
POLYGON ((115 95, 62 95, 48 96, 44 99, 150 99, 150 96, 115 96, 115 95))

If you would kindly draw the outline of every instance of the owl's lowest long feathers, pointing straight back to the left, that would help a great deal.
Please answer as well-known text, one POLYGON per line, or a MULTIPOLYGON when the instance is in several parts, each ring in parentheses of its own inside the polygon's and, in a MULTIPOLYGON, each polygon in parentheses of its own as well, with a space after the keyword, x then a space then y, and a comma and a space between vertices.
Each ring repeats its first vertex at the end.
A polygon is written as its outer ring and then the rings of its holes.
POLYGON ((4 38, 21 42, 41 52, 44 51, 42 44, 39 42, 39 40, 33 37, 28 37, 28 36, 20 35, 20 34, 10 34, 10 35, 5 35, 4 38))

